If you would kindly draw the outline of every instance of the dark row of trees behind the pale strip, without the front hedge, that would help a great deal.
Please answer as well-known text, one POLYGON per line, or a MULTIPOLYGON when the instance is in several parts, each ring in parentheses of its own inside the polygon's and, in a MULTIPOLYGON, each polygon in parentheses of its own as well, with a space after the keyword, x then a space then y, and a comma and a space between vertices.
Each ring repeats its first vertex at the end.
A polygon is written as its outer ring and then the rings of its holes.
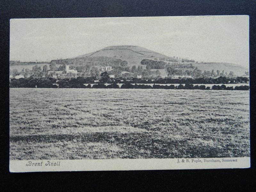
MULTIPOLYGON (((63 79, 55 79, 52 77, 41 77, 35 78, 35 76, 31 76, 29 78, 20 78, 20 79, 11 79, 10 80, 10 87, 35 87, 35 85, 41 86, 40 84, 94 84, 95 78, 93 77, 70 77, 70 78, 63 78, 63 79)), ((160 78, 160 79, 138 79, 132 78, 128 80, 123 77, 118 78, 110 78, 107 72, 103 72, 100 74, 100 84, 114 84, 114 83, 121 83, 121 84, 235 84, 235 83, 248 83, 248 77, 236 77, 236 78, 226 78, 226 77, 218 77, 215 79, 212 78, 180 78, 180 79, 171 79, 171 78, 160 78)))

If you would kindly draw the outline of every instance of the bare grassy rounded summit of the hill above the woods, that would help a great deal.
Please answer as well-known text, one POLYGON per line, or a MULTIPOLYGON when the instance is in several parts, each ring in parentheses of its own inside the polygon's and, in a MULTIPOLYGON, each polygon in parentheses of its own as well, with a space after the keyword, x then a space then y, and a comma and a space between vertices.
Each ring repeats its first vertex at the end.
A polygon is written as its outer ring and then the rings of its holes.
POLYGON ((140 61, 143 59, 157 59, 167 60, 170 62, 177 62, 178 60, 166 55, 148 50, 140 46, 123 45, 123 46, 109 46, 99 51, 77 56, 80 57, 115 57, 117 59, 126 60, 128 66, 140 66, 140 61))

